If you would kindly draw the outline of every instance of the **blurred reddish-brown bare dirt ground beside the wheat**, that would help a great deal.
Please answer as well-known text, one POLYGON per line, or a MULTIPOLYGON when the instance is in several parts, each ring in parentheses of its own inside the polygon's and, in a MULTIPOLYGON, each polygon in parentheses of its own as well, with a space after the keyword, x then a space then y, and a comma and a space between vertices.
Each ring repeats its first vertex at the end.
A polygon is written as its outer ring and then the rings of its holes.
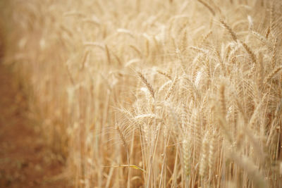
POLYGON ((27 118, 27 99, 14 77, 0 63, 0 187, 70 187, 63 164, 27 118))

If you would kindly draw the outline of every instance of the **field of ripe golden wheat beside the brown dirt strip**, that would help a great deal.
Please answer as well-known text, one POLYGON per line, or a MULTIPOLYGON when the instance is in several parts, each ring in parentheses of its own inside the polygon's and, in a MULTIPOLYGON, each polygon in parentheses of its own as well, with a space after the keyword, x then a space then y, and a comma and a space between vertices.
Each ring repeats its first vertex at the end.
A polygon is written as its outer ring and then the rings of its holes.
POLYGON ((282 1, 0 7, 4 63, 73 187, 282 187, 282 1))

